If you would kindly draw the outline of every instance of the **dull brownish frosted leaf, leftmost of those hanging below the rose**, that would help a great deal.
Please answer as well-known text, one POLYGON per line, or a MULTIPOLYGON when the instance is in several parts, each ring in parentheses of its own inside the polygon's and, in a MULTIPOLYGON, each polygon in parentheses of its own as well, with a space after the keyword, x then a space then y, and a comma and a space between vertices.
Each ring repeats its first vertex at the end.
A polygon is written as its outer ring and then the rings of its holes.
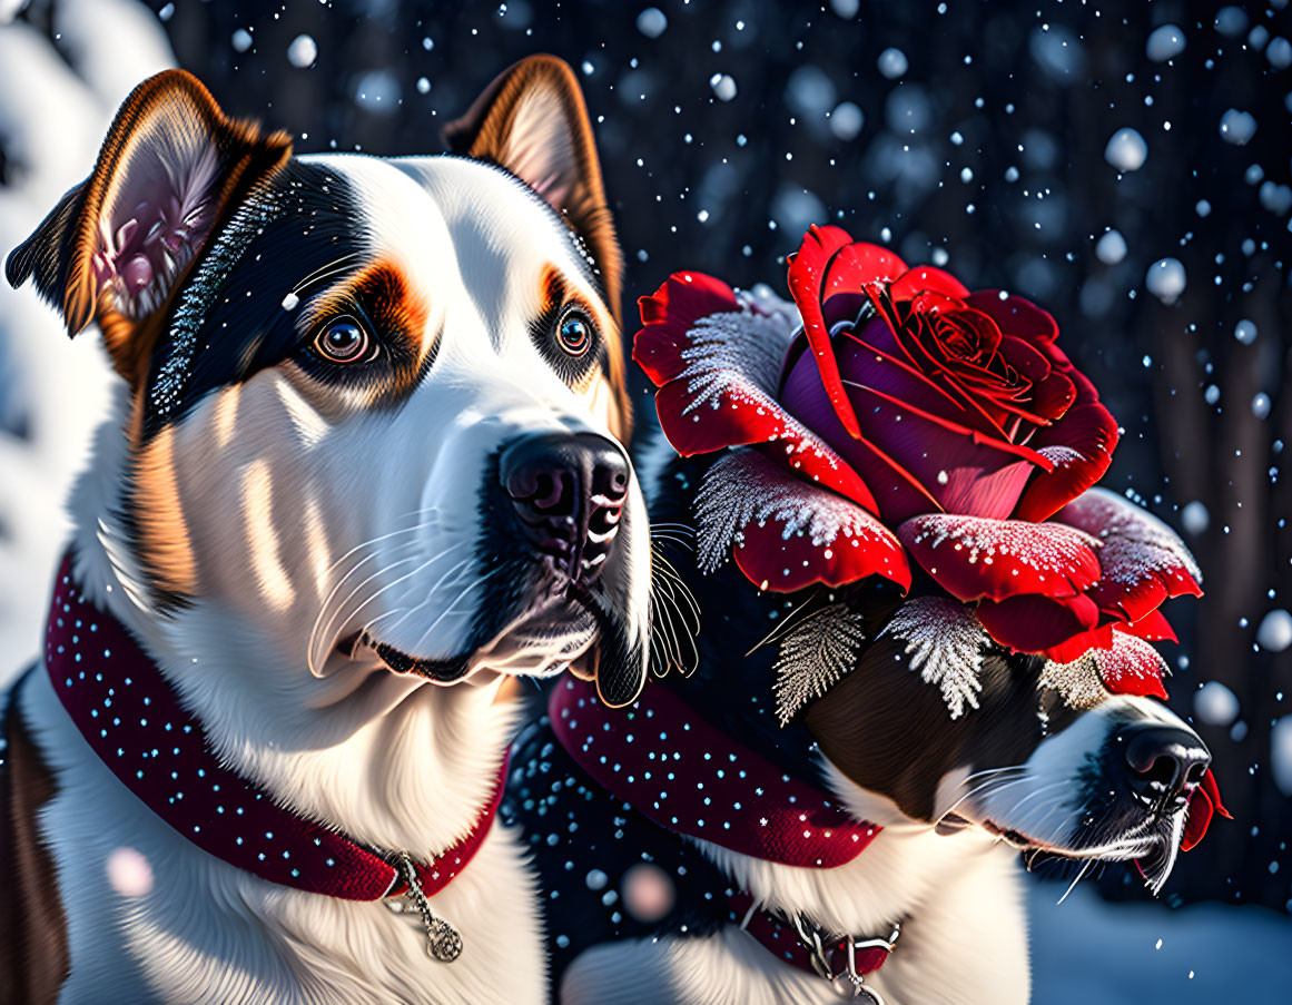
POLYGON ((795 627, 776 656, 776 720, 784 726, 813 699, 820 698, 857 667, 866 633, 862 619, 835 603, 795 627))

